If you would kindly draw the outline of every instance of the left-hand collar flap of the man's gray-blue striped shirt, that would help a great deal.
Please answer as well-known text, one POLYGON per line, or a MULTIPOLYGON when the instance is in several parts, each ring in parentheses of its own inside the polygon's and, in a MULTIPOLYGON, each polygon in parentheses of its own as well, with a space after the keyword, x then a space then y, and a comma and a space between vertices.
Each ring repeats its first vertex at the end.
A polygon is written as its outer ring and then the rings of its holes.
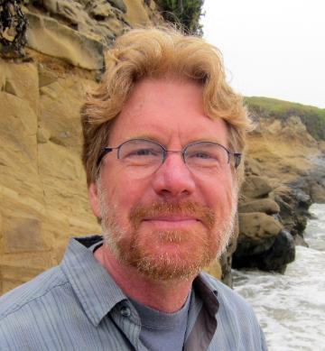
POLYGON ((95 326, 117 303, 126 300, 124 292, 89 249, 102 240, 102 236, 70 239, 60 264, 88 319, 95 326))

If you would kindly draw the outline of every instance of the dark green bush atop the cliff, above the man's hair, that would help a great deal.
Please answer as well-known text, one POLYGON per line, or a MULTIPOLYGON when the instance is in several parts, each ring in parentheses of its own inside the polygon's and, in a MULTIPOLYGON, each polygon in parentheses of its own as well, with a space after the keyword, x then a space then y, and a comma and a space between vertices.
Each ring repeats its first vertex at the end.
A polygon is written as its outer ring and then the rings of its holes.
POLYGON ((181 24, 185 30, 202 35, 199 23, 204 0, 157 0, 163 18, 171 23, 181 24))

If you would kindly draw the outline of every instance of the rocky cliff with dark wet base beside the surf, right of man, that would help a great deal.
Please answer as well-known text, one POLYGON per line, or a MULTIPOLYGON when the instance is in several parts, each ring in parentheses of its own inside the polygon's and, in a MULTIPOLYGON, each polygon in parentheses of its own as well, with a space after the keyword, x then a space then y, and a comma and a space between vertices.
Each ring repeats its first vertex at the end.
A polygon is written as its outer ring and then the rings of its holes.
POLYGON ((284 272, 294 259, 295 245, 305 245, 308 208, 312 202, 325 202, 324 142, 311 136, 300 116, 255 118, 233 267, 284 272))

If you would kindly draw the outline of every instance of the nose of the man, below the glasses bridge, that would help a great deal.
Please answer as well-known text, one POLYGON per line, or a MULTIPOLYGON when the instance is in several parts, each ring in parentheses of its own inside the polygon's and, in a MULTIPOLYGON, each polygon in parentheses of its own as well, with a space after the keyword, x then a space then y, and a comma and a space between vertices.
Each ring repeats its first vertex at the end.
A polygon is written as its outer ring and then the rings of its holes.
POLYGON ((159 197, 167 199, 186 198, 195 190, 195 181, 181 152, 171 152, 160 168, 153 174, 153 189, 159 197))

